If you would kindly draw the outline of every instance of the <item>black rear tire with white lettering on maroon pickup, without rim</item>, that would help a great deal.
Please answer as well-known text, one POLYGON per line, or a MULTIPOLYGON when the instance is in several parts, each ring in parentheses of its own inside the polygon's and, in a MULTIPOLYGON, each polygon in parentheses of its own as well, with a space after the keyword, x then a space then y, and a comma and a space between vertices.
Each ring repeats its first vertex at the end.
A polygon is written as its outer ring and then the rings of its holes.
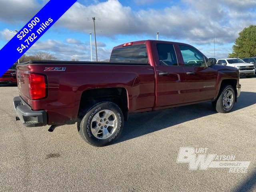
MULTIPOLYGON (((124 116, 123 116, 122 110, 113 102, 99 102, 97 104, 94 104, 93 106, 85 109, 82 112, 82 114, 80 114, 80 117, 78 117, 78 122, 77 122, 77 128, 80 136, 88 144, 92 146, 97 146, 97 147, 102 147, 102 146, 106 146, 113 143, 121 135, 123 127, 124 127, 124 116), (92 122, 94 116, 96 114, 100 114, 99 112, 104 110, 111 110, 111 112, 115 114, 117 118, 117 126, 116 126, 116 129, 111 133, 110 137, 106 139, 99 139, 96 136, 94 136, 94 134, 92 133, 91 125, 92 123, 95 124, 95 122, 92 122)), ((103 136, 103 130, 102 130, 102 136, 103 136)))

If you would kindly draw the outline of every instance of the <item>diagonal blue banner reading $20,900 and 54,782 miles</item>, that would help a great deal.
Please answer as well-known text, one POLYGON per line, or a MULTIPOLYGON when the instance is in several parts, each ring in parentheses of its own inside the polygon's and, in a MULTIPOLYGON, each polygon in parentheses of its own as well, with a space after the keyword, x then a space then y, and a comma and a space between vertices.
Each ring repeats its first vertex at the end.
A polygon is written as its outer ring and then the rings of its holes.
POLYGON ((50 0, 1 50, 4 74, 77 0, 50 0))

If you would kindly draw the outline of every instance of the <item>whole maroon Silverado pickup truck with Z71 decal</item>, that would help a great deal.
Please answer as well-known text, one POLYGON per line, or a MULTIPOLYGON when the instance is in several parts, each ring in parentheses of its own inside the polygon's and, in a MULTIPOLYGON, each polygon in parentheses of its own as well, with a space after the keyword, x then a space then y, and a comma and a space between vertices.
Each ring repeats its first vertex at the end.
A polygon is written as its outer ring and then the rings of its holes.
POLYGON ((144 40, 116 46, 110 62, 31 61, 17 66, 13 100, 25 126, 75 124, 94 146, 120 136, 129 113, 212 102, 230 112, 239 71, 184 43, 144 40))

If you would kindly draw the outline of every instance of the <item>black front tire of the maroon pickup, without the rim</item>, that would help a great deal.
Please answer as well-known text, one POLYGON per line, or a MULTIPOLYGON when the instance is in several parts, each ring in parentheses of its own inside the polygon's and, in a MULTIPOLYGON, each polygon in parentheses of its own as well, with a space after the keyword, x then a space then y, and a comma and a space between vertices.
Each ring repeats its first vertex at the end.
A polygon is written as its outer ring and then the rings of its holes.
POLYGON ((236 100, 236 93, 235 93, 234 88, 231 85, 226 85, 226 86, 223 86, 222 89, 220 90, 220 94, 218 95, 218 98, 214 102, 212 102, 212 107, 218 113, 228 113, 234 107, 235 100, 236 100), (232 103, 230 103, 231 104, 230 108, 227 109, 224 107, 222 101, 223 101, 224 93, 228 90, 230 90, 232 92, 233 100, 232 100, 232 103))

